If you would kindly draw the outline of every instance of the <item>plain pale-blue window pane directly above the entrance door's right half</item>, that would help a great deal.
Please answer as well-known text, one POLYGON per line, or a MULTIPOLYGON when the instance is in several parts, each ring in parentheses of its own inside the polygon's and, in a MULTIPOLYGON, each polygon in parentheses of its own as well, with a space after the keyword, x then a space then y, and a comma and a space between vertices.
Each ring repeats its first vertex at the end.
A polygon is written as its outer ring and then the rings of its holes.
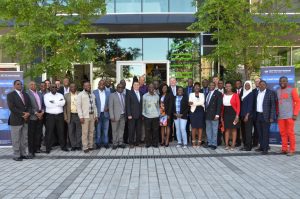
POLYGON ((168 54, 168 38, 143 39, 144 60, 166 60, 168 54))

